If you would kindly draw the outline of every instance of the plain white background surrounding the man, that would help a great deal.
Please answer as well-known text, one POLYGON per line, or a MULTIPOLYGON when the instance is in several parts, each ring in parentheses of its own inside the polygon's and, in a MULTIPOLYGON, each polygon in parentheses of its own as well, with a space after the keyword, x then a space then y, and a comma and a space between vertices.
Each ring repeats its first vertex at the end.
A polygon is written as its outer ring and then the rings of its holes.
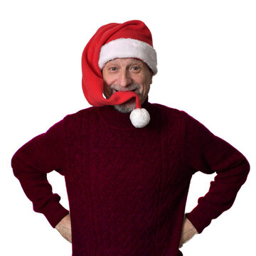
MULTIPOLYGON (((81 55, 97 28, 140 19, 158 54, 149 102, 184 110, 244 154, 251 171, 230 210, 183 245, 185 256, 255 252, 255 1, 1 1, 0 255, 71 255, 71 245, 33 212, 11 156, 66 114, 90 107, 81 55)), ((196 174, 186 211, 213 176, 196 174)), ((49 175, 68 208, 64 178, 49 175)))

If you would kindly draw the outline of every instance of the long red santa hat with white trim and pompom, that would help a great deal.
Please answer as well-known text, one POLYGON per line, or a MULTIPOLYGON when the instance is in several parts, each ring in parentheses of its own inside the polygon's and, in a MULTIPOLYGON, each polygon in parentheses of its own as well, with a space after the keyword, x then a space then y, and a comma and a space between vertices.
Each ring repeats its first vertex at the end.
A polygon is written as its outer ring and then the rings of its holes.
POLYGON ((110 23, 97 30, 82 53, 82 90, 90 105, 95 107, 120 105, 136 97, 136 109, 132 110, 130 119, 134 127, 145 127, 150 120, 149 112, 142 109, 135 92, 115 92, 109 99, 102 95, 101 70, 114 58, 139 58, 156 75, 156 51, 149 28, 142 21, 110 23))

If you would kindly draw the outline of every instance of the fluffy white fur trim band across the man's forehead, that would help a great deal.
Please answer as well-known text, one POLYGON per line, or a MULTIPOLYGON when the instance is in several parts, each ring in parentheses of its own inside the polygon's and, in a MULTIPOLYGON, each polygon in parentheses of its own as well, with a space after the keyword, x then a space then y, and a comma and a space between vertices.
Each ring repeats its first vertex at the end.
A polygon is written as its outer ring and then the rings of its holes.
POLYGON ((100 49, 98 62, 100 70, 108 61, 114 60, 114 58, 139 58, 151 68, 154 75, 157 73, 156 50, 143 41, 132 38, 118 38, 106 43, 100 49))

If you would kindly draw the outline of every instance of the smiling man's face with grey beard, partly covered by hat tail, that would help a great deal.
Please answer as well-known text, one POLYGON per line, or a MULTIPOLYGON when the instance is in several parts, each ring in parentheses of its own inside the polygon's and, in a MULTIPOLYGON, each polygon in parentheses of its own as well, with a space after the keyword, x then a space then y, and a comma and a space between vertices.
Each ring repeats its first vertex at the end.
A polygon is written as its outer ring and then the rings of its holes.
MULTIPOLYGON (((142 60, 136 58, 116 58, 106 63, 102 69, 103 93, 108 99, 117 91, 134 91, 144 103, 152 83, 152 73, 142 60)), ((136 107, 135 97, 121 105, 114 105, 119 112, 129 113, 136 107)))

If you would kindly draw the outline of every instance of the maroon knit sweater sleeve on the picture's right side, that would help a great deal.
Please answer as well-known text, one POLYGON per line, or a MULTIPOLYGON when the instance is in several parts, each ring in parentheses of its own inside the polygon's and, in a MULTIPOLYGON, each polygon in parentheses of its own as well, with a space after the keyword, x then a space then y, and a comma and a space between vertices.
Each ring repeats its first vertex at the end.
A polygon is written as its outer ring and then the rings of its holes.
POLYGON ((198 205, 186 213, 198 233, 202 233, 211 220, 233 205, 240 187, 247 179, 250 164, 228 142, 215 136, 186 112, 182 114, 186 126, 185 159, 188 168, 193 173, 216 173, 208 193, 198 198, 198 205))

